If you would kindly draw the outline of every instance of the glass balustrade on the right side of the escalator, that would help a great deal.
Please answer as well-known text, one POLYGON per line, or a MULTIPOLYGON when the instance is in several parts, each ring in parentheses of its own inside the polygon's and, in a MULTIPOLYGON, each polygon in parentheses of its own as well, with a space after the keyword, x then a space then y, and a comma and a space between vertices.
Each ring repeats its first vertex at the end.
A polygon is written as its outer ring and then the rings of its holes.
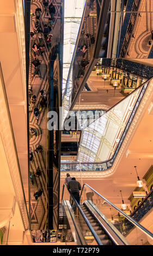
POLYGON ((119 209, 93 188, 84 184, 80 204, 86 200, 90 200, 91 204, 95 205, 99 215, 104 215, 124 235, 130 245, 153 245, 153 234, 131 218, 128 209, 125 211, 119 209))

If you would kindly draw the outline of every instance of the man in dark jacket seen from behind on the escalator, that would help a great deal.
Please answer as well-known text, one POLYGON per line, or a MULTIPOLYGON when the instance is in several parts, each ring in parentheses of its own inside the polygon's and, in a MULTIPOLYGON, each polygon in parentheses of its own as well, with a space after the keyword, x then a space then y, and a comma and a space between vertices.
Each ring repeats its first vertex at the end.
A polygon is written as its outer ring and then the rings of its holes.
POLYGON ((81 190, 81 184, 76 181, 76 178, 72 178, 71 181, 68 183, 68 190, 71 191, 72 196, 76 199, 77 203, 79 204, 79 190, 81 190))

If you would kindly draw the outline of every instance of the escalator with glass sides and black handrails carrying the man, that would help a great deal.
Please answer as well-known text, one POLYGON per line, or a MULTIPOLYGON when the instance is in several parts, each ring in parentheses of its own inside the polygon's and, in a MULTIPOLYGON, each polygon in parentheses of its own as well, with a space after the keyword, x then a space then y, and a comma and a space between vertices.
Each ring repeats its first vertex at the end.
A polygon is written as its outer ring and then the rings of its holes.
POLYGON ((65 211, 63 234, 71 229, 76 245, 135 245, 142 239, 153 245, 149 230, 87 184, 83 185, 79 204, 64 184, 62 208, 65 211))

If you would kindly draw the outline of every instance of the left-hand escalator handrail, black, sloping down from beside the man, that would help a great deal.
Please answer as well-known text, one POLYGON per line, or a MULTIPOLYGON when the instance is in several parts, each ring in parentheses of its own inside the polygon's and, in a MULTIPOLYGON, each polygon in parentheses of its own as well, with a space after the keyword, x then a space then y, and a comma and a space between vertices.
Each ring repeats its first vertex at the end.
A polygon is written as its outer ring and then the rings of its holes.
MULTIPOLYGON (((62 200, 63 200, 63 196, 64 196, 64 188, 66 187, 66 189, 68 190, 68 187, 66 186, 66 184, 63 185, 63 191, 62 191, 62 200)), ((93 227, 91 226, 90 222, 88 221, 88 218, 84 215, 84 212, 82 211, 81 207, 79 206, 79 204, 77 203, 76 199, 74 198, 74 196, 72 196, 71 192, 68 190, 70 196, 72 197, 72 199, 74 200, 78 210, 81 212, 82 217, 84 218, 85 223, 88 225, 88 228, 90 229, 91 233, 93 234, 96 242, 98 245, 102 245, 101 240, 99 239, 99 236, 96 234, 95 230, 93 229, 93 227)))

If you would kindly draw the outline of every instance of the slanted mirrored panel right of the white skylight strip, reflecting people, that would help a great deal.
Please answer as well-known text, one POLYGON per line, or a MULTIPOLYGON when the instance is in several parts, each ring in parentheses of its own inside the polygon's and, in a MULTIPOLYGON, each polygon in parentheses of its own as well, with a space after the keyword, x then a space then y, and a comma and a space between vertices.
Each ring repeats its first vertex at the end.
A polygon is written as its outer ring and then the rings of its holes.
MULTIPOLYGON (((85 71, 94 56, 96 36, 100 20, 101 3, 103 1, 87 0, 84 21, 72 68, 72 99, 83 81, 85 71)), ((107 21, 108 23, 108 21, 107 21)), ((106 31, 105 31, 106 33, 106 31)))

